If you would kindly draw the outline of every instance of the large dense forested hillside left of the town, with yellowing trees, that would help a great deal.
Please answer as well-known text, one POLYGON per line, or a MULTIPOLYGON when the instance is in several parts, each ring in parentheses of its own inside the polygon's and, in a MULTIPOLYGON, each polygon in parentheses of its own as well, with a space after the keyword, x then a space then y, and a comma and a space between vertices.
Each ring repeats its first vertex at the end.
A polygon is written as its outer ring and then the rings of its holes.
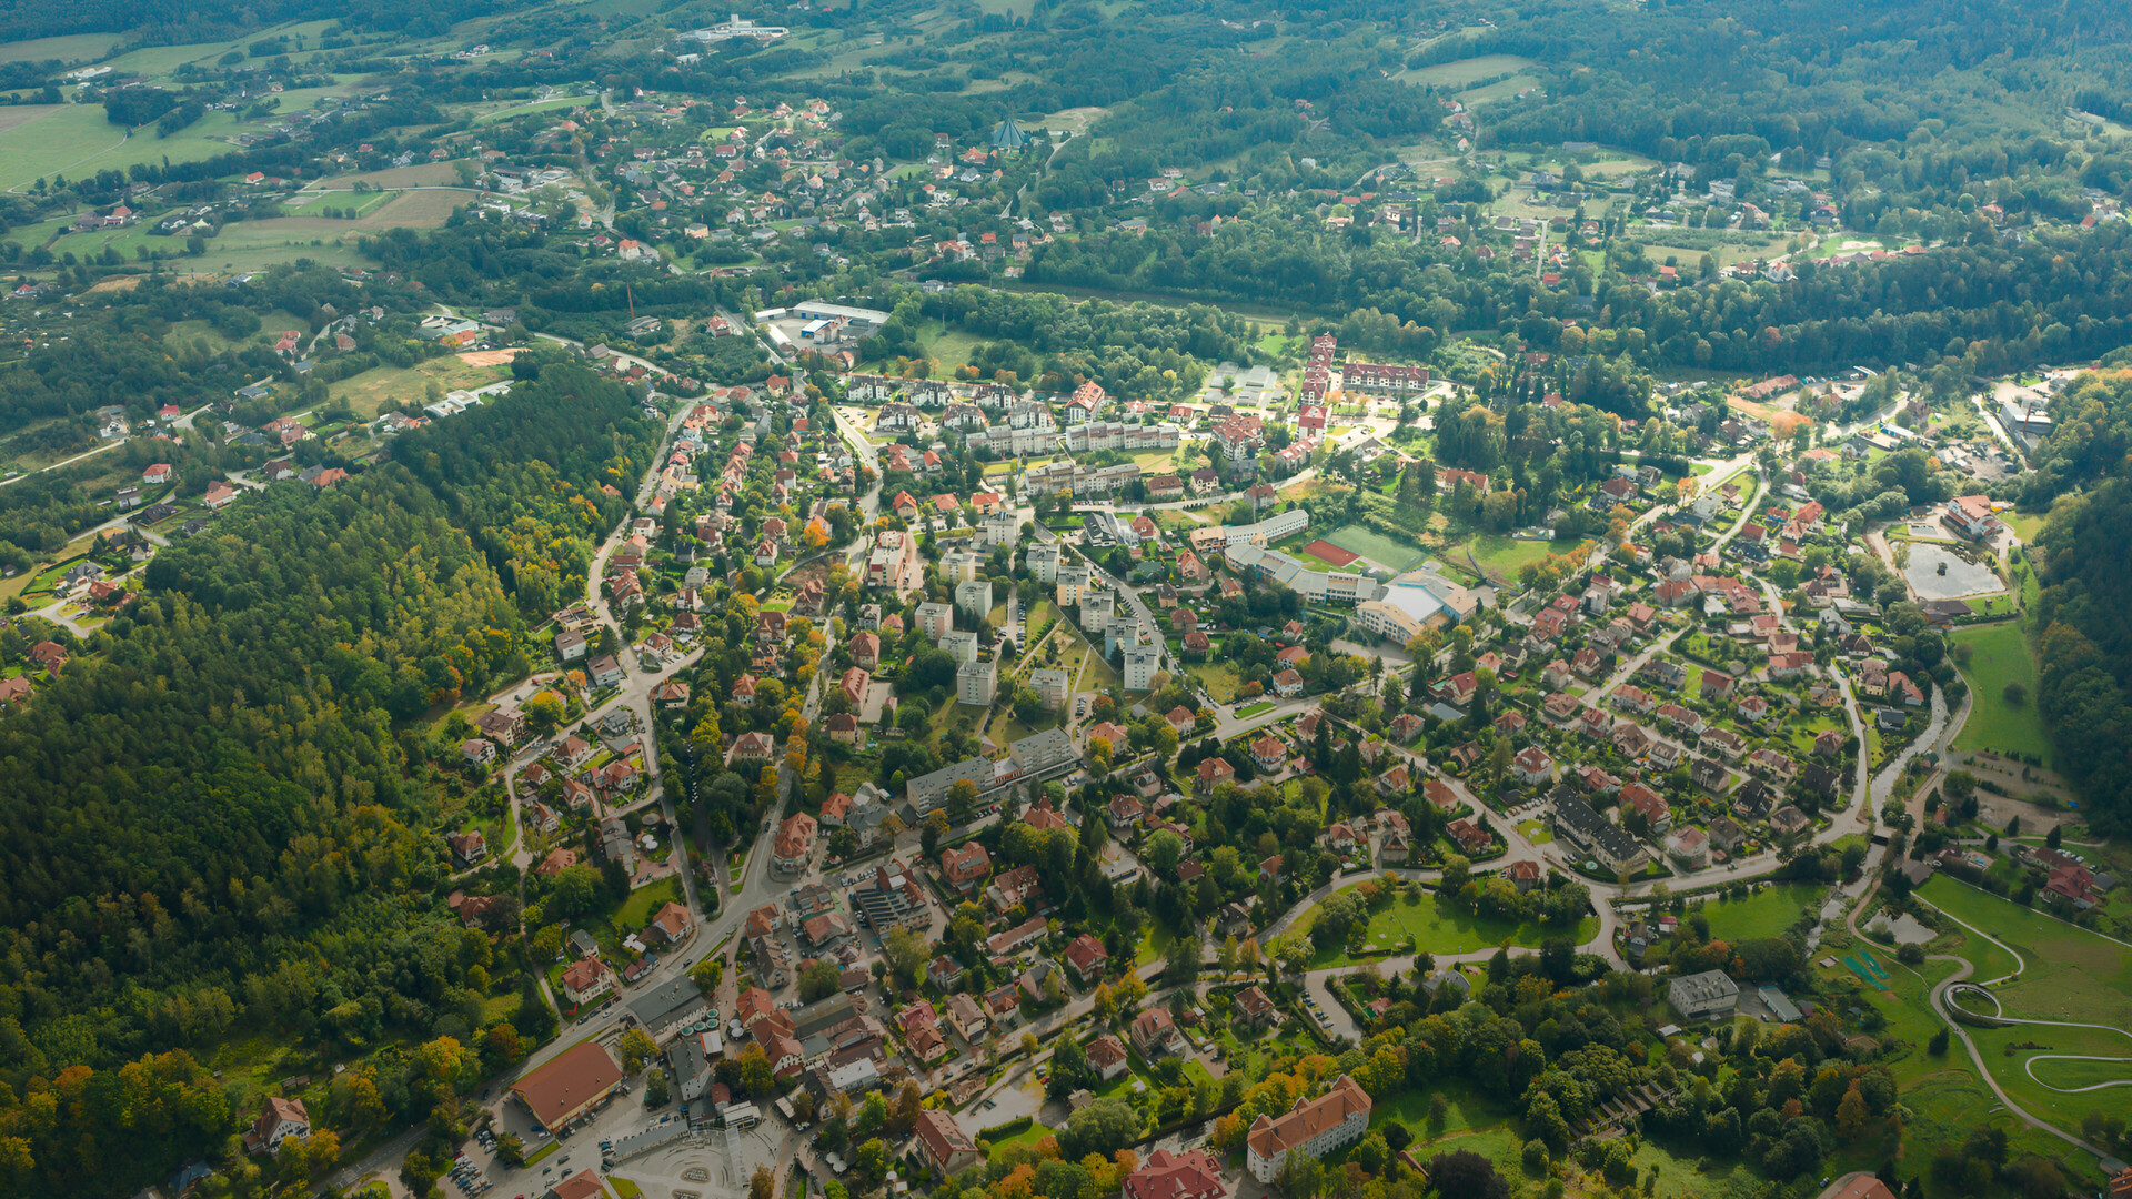
POLYGON ((655 444, 620 384, 544 375, 403 442, 411 467, 269 491, 160 553, 143 597, 0 721, 0 1158, 17 1193, 130 1190, 200 1148, 158 1126, 151 1154, 100 1152, 38 1116, 53 1086, 183 1075, 147 1056, 241 1030, 345 1052, 482 1024, 488 971, 433 898, 448 864, 424 832, 456 753, 407 721, 531 668, 503 572, 556 585, 563 559, 520 555, 610 521, 584 497, 642 474, 655 444), (446 463, 450 486, 424 482, 446 463), (484 480, 495 463, 518 465, 484 480), (522 512, 510 538, 469 538, 505 501, 522 512))

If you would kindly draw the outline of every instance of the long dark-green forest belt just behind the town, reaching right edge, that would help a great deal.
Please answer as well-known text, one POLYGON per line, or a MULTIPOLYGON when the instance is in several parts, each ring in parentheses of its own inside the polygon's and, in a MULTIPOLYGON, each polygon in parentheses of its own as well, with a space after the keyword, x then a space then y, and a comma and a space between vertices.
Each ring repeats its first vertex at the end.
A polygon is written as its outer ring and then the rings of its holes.
POLYGON ((1985 237, 1887 262, 1802 265, 1787 286, 1708 279, 1650 290, 1578 269, 1569 288, 1548 288, 1471 254, 1433 254, 1399 237, 1356 243, 1352 233, 1298 235, 1288 222, 1239 220, 1211 239, 1060 241, 1038 250, 1028 279, 1328 311, 1373 307, 1420 326, 1428 343, 1499 331, 1533 348, 1744 373, 1942 356, 1966 361, 1970 373, 2006 373, 2132 339, 2132 230, 2121 222, 2021 245, 1985 237), (1565 329, 1573 311, 1590 314, 1590 329, 1565 329))

